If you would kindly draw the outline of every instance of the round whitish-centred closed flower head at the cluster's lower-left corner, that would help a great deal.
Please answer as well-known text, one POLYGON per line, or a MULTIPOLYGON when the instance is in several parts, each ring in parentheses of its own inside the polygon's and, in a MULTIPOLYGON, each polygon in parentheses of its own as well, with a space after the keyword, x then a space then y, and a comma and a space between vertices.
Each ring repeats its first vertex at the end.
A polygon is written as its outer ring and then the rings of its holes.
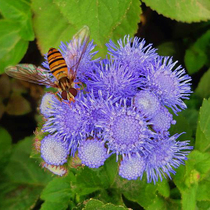
POLYGON ((48 135, 41 141, 41 157, 50 165, 63 165, 67 162, 69 144, 58 135, 48 135))

